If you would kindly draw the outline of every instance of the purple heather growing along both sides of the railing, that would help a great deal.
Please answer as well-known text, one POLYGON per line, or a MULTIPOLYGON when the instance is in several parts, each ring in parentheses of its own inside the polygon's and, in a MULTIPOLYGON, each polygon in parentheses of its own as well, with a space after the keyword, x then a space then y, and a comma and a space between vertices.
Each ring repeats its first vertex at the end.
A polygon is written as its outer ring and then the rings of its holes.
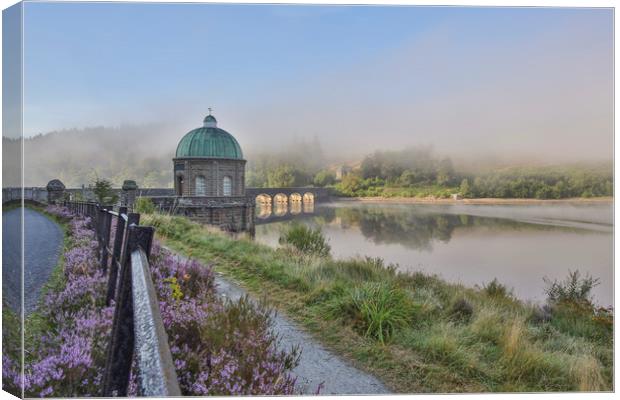
MULTIPOLYGON (((64 207, 48 206, 46 211, 69 219, 71 243, 64 254, 64 285, 47 291, 39 306, 49 333, 26 349, 25 394, 98 396, 114 315, 114 306, 105 306, 107 276, 97 265, 98 244, 91 221, 64 207)), ((216 295, 211 266, 176 257, 157 241, 150 264, 184 395, 295 392, 290 371, 299 354, 296 349, 277 350, 269 310, 247 298, 224 302, 216 295)), ((19 370, 3 354, 3 388, 20 392, 19 370)), ((128 394, 137 393, 132 372, 128 394)))

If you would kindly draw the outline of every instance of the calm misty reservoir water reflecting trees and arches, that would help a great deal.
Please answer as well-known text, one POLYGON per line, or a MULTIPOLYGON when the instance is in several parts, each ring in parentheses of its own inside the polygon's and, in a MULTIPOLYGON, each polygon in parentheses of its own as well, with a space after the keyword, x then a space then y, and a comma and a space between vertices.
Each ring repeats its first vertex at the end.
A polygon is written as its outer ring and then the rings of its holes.
MULTIPOLYGON (((579 269, 600 278, 596 300, 613 302, 612 204, 290 205, 286 221, 258 225, 256 239, 277 246, 293 220, 320 226, 336 257, 368 255, 468 286, 497 277, 529 300, 544 298, 543 277, 579 269), (294 208, 294 210, 293 210, 294 208), (293 212, 294 211, 294 212, 293 212)), ((273 214, 285 217, 276 205, 273 214)), ((267 213, 258 211, 259 215, 267 213)))

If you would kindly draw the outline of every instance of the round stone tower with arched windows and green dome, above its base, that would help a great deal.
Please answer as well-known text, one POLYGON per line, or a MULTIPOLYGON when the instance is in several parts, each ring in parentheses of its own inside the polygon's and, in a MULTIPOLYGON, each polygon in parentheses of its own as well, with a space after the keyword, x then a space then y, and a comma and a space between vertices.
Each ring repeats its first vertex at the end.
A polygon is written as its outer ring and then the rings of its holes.
POLYGON ((241 146, 217 127, 210 111, 202 127, 183 136, 172 162, 177 196, 245 196, 246 160, 241 146))

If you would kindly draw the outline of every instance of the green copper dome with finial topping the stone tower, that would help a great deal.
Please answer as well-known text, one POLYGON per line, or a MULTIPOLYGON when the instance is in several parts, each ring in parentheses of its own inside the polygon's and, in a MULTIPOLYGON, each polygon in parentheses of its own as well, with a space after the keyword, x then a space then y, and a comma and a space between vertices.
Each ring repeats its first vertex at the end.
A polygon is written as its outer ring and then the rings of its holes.
POLYGON ((233 158, 243 159, 239 142, 223 129, 211 114, 204 119, 204 126, 189 131, 177 146, 176 158, 233 158))

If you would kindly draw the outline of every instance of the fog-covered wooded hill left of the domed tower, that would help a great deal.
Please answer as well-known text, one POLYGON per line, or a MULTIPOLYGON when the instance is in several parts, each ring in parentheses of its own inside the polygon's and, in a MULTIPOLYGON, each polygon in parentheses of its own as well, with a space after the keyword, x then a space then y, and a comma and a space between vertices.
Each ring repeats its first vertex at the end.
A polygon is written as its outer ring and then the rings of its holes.
MULTIPOLYGON (((88 185, 93 178, 120 186, 135 179, 143 187, 170 186, 172 156, 178 138, 163 125, 69 129, 24 140, 24 184, 43 186, 59 178, 67 187, 88 185)), ((2 138, 3 154, 19 161, 19 140, 2 138)), ((7 161, 4 162, 7 165, 7 161)), ((19 183, 3 174, 4 186, 19 183)))

